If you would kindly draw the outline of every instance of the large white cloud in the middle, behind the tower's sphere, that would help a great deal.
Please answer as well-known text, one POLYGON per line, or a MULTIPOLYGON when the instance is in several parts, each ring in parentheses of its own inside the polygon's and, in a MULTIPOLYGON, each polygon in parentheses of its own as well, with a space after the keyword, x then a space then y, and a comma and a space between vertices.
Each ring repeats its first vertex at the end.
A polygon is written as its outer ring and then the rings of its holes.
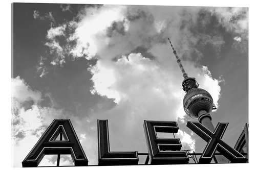
MULTIPOLYGON (((187 63, 185 66, 188 66, 187 63)), ((195 75, 201 88, 212 94, 215 104, 218 105, 219 80, 212 79, 206 66, 197 68, 190 65, 185 68, 191 76, 195 75)), ((127 102, 132 110, 143 107, 143 111, 138 110, 138 114, 143 112, 147 115, 151 112, 154 114, 161 110, 161 114, 169 115, 174 119, 182 118, 185 114, 184 111, 180 113, 175 111, 178 109, 177 105, 182 106, 181 99, 184 96, 178 65, 176 70, 172 70, 168 68, 168 64, 161 65, 138 53, 122 56, 116 62, 98 60, 90 71, 93 75, 91 79, 94 83, 93 93, 113 99, 117 104, 127 102), (176 109, 170 109, 170 104, 176 109), (173 112, 173 115, 170 115, 170 112, 173 112)))

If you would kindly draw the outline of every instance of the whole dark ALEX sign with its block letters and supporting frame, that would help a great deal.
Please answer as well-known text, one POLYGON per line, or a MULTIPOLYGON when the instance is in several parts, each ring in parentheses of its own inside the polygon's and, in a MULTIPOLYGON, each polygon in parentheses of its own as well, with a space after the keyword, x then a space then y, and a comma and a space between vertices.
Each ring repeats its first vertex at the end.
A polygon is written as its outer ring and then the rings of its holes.
MULTIPOLYGON (((108 120, 98 120, 98 165, 138 165, 138 164, 196 164, 196 163, 247 163, 248 124, 234 148, 222 140, 228 123, 218 123, 212 132, 199 122, 187 122, 187 127, 206 141, 203 153, 181 150, 182 143, 175 137, 177 122, 144 120, 147 153, 137 151, 111 151, 108 120), (173 138, 161 138, 157 133, 173 133, 173 138), (144 163, 139 163, 144 156, 144 163)), ((74 166, 88 166, 90 161, 80 144, 70 119, 54 119, 33 149, 22 162, 23 167, 36 167, 45 155, 71 155, 74 166)))

